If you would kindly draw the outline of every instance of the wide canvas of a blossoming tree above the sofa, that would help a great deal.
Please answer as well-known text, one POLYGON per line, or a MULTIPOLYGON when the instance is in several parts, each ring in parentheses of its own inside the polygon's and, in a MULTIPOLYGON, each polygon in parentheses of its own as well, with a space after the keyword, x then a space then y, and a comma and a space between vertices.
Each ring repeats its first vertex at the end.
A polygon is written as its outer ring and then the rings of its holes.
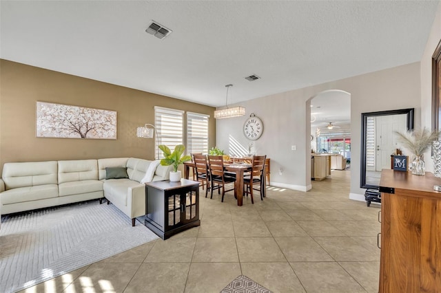
POLYGON ((116 140, 116 111, 37 102, 37 138, 116 140))

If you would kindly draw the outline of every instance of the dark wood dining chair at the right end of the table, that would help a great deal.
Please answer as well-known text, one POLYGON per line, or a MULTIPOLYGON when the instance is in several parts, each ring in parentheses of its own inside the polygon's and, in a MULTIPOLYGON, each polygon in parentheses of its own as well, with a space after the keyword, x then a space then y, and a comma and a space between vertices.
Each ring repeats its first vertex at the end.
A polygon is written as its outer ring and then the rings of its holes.
POLYGON ((243 177, 243 187, 245 188, 245 194, 250 195, 251 202, 254 204, 253 190, 260 192, 260 199, 263 200, 263 172, 265 169, 266 155, 254 155, 252 158, 252 171, 249 175, 243 177), (258 188, 257 188, 258 187, 258 188))

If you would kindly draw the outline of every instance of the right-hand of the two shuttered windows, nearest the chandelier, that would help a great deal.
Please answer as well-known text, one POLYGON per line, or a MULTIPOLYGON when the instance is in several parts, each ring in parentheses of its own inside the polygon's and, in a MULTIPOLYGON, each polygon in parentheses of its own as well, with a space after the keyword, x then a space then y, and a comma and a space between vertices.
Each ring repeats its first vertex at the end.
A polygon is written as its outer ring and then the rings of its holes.
POLYGON ((208 153, 208 115, 187 112, 187 154, 208 153))

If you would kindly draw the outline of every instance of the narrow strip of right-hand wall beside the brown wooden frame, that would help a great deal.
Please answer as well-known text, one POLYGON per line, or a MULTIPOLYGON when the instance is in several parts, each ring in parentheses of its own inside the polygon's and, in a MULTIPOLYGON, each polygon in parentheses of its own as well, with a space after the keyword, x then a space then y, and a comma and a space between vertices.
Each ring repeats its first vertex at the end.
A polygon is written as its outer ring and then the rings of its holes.
MULTIPOLYGON (((441 3, 433 21, 429 39, 421 59, 421 125, 431 129, 432 126, 432 55, 441 39, 441 3)), ((426 171, 433 172, 433 161, 429 152, 424 155, 426 171)))

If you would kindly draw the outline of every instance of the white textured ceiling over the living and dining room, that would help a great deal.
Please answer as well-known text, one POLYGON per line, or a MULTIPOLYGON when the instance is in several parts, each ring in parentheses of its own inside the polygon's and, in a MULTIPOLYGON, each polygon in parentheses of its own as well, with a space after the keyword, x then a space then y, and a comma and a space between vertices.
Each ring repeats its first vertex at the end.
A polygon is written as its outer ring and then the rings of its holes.
POLYGON ((1 1, 0 57, 218 107, 420 61, 438 3, 1 1))

